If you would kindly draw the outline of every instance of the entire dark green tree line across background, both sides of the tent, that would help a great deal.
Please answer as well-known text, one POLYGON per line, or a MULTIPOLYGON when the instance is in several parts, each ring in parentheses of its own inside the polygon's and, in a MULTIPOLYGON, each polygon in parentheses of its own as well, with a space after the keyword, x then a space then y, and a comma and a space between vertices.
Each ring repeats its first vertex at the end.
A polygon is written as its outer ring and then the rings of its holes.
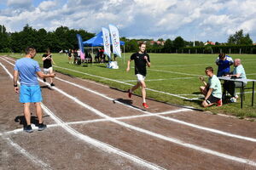
MULTIPOLYGON (((32 26, 26 25, 19 32, 7 32, 5 26, 0 26, 0 52, 21 53, 27 46, 32 46, 41 53, 46 48, 55 53, 65 49, 79 48, 76 34, 80 34, 83 41, 96 35, 82 29, 69 29, 67 26, 57 27, 55 31, 46 31, 44 28, 36 30, 32 26)), ((253 46, 249 34, 244 35, 242 30, 230 35, 226 43, 215 42, 216 45, 214 46, 205 46, 204 42, 201 41, 187 42, 183 37, 176 37, 174 40, 168 38, 166 41, 160 38, 158 42, 164 42, 164 45, 154 42, 153 39, 121 37, 120 40, 125 42, 125 52, 136 52, 138 42, 146 42, 148 53, 217 53, 222 50, 237 53, 238 51, 241 52, 242 48, 243 51, 246 51, 244 53, 254 54, 256 48, 253 46)))

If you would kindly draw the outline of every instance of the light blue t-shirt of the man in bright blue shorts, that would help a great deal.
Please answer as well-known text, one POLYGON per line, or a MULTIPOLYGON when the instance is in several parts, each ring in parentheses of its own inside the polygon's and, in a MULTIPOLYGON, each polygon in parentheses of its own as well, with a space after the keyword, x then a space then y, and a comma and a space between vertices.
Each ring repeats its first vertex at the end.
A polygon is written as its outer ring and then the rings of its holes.
POLYGON ((18 59, 15 63, 15 71, 19 71, 21 85, 38 85, 37 72, 41 71, 38 61, 30 58, 18 59))

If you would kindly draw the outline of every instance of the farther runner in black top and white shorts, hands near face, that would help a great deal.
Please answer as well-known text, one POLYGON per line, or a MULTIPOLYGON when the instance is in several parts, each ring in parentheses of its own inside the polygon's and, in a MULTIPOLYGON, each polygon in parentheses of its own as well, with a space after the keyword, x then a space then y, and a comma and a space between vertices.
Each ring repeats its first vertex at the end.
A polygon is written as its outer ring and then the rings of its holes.
MULTIPOLYGON (((52 59, 49 49, 47 49, 45 54, 43 54, 42 60, 44 62, 44 74, 46 74, 46 75, 52 74, 53 73, 52 64, 55 64, 55 62, 52 59)), ((49 81, 50 81, 50 86, 55 86, 55 84, 53 83, 52 77, 49 77, 49 81)), ((44 82, 46 82, 45 78, 44 78, 44 82)))

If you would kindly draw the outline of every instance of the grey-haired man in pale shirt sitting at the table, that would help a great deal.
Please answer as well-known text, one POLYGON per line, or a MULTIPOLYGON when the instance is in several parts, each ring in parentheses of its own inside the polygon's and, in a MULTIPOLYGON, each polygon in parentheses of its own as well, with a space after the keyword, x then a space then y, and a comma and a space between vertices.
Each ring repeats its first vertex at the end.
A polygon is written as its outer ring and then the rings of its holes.
MULTIPOLYGON (((243 66, 241 65, 241 59, 235 59, 234 62, 234 71, 232 74, 227 75, 227 77, 231 78, 244 78, 247 79, 246 72, 244 71, 243 66)), ((243 82, 243 87, 247 85, 247 82, 243 82)), ((236 88, 241 88, 241 82, 232 82, 232 81, 226 81, 224 82, 224 94, 226 94, 226 91, 231 95, 231 102, 236 102, 236 99, 238 98, 238 95, 236 95, 236 88)))

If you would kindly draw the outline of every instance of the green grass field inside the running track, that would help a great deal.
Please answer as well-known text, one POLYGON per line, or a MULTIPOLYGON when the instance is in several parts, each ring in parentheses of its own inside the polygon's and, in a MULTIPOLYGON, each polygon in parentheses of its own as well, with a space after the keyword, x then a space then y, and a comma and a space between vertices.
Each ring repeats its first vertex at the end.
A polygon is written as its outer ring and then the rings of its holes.
MULTIPOLYGON (((16 59, 22 57, 21 54, 9 54, 16 59)), ((202 85, 199 81, 199 75, 203 75, 205 68, 207 66, 212 66, 214 72, 217 71, 217 65, 215 65, 215 59, 217 59, 218 54, 149 54, 151 60, 151 67, 148 68, 148 75, 146 78, 147 88, 158 90, 160 92, 154 92, 151 90, 147 91, 147 97, 152 99, 157 99, 160 101, 176 104, 176 105, 187 105, 199 109, 201 108, 201 99, 196 99, 201 97, 199 94, 199 87, 202 85), (168 94, 164 94, 168 93, 168 94), (174 96, 177 95, 177 96, 174 96), (183 99, 187 98, 187 99, 183 99), (195 100, 189 100, 195 99, 195 100)), ((42 54, 37 54, 36 60, 42 65, 41 61, 42 54)), ((119 69, 107 69, 106 64, 92 64, 92 66, 83 67, 81 65, 71 65, 68 64, 67 55, 65 54, 53 54, 55 60, 55 71, 61 71, 63 73, 72 75, 74 77, 82 77, 90 79, 96 82, 102 82, 108 84, 108 86, 113 88, 119 88, 121 90, 126 90, 130 88, 130 84, 136 84, 137 78, 134 76, 133 63, 131 65, 131 71, 126 72, 126 60, 130 58, 131 54, 125 54, 125 59, 118 59, 119 69), (124 62, 125 61, 125 62, 124 62), (66 69, 71 69, 72 71, 67 71, 66 69), (81 71, 85 75, 79 72, 81 71), (95 75, 98 77, 93 77, 95 75), (106 80, 102 77, 107 77, 109 79, 118 80, 120 82, 114 82, 112 80, 106 80), (125 82, 125 83, 123 83, 125 82)), ((249 54, 231 54, 233 59, 240 58, 242 65, 244 66, 247 78, 256 79, 256 55, 249 54)), ((233 66, 232 69, 233 70, 233 66)), ((57 86, 57 84, 56 84, 57 86)), ((252 86, 249 82, 247 86, 252 86)), ((247 92, 251 92, 247 90, 247 92)), ((135 92, 136 94, 141 94, 140 90, 135 92)), ((244 101, 243 109, 240 109, 240 99, 237 103, 232 103, 228 105, 223 105, 222 107, 212 106, 210 108, 204 109, 205 111, 212 111, 212 113, 224 113, 233 116, 243 117, 256 117, 256 103, 251 106, 251 93, 246 94, 246 99, 244 101)))

